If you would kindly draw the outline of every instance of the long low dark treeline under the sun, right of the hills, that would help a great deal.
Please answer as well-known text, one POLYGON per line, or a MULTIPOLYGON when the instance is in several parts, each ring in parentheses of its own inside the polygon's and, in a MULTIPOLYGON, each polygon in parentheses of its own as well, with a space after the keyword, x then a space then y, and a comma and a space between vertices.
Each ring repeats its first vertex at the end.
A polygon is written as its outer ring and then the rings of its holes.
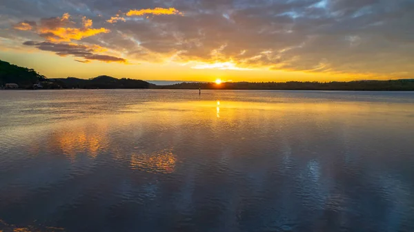
POLYGON ((414 79, 393 81, 350 81, 350 82, 299 82, 286 83, 179 83, 175 85, 157 86, 161 89, 262 89, 262 90, 360 90, 360 91, 413 91, 414 79))

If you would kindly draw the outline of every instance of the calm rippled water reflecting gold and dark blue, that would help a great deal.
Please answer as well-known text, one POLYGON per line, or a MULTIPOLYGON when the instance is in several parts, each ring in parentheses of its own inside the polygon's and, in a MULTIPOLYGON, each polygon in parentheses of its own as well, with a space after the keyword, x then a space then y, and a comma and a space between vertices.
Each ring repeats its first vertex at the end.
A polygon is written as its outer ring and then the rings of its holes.
POLYGON ((0 91, 0 230, 414 231, 414 93, 0 91))

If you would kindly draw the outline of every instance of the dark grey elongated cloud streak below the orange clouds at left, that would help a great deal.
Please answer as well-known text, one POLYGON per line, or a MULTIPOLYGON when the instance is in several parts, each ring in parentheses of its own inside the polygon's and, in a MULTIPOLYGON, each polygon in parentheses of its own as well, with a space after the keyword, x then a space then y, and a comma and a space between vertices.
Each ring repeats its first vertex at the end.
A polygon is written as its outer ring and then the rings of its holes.
POLYGON ((36 41, 26 41, 23 45, 32 46, 42 51, 55 52, 59 56, 75 56, 85 59, 80 61, 75 59, 75 61, 82 63, 89 63, 90 60, 103 61, 103 62, 117 62, 117 63, 127 63, 126 59, 119 58, 116 56, 108 56, 95 54, 94 52, 101 51, 103 48, 97 45, 78 45, 76 43, 52 43, 52 42, 36 42, 36 41))

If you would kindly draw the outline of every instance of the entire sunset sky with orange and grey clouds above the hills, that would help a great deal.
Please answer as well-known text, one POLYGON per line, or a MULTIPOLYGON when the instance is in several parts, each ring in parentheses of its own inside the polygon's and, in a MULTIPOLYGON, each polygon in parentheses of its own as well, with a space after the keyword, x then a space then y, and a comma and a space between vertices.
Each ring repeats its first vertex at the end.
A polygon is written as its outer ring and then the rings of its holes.
POLYGON ((1 0, 0 59, 48 78, 414 78, 413 0, 1 0))

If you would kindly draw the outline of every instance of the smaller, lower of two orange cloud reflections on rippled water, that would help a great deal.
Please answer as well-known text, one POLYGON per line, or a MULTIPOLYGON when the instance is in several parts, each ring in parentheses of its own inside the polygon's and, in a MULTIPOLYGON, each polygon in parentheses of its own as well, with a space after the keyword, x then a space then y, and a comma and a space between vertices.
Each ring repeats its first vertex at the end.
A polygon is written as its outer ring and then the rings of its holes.
POLYGON ((170 150, 161 150, 152 154, 133 154, 130 167, 134 170, 150 173, 172 173, 175 169, 177 156, 170 150))

